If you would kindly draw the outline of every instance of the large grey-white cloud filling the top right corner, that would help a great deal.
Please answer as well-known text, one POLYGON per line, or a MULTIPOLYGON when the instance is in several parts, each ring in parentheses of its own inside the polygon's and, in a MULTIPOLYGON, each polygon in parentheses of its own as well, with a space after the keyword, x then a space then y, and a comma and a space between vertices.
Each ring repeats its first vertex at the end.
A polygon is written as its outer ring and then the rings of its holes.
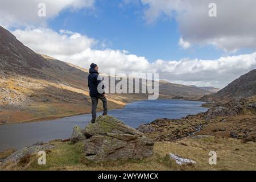
POLYGON ((174 18, 183 39, 191 44, 213 45, 228 52, 256 48, 254 0, 141 0, 148 23, 162 16, 174 18), (216 3, 217 17, 209 16, 216 3))

